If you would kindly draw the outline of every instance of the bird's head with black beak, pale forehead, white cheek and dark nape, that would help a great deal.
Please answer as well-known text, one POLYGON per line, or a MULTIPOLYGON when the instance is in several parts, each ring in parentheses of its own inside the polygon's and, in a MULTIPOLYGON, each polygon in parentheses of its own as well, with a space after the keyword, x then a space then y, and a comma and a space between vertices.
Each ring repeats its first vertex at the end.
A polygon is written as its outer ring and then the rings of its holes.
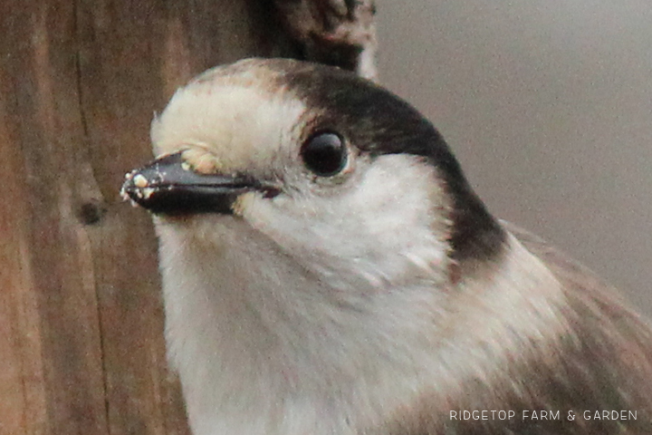
POLYGON ((430 122, 336 68, 215 68, 176 92, 151 137, 158 158, 123 193, 159 226, 211 240, 235 219, 335 287, 447 279, 503 242, 430 122))

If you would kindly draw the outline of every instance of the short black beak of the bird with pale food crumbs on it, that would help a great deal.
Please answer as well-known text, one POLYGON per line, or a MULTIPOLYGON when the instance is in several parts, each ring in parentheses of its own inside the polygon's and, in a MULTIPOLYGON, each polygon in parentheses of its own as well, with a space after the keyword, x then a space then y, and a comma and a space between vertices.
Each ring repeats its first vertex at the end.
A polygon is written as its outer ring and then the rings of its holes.
POLYGON ((278 189, 244 176, 198 174, 178 152, 129 172, 120 194, 156 214, 231 214, 235 198, 252 190, 267 198, 278 194, 278 189))

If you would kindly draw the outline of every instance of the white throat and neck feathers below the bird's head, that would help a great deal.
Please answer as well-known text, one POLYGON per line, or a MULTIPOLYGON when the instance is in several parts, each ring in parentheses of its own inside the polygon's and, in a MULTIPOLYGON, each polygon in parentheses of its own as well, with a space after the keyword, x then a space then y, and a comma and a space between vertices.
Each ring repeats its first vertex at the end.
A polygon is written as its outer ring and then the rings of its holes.
POLYGON ((206 237, 158 225, 168 353, 197 435, 357 433, 557 322, 554 278, 513 239, 500 274, 350 297, 243 224, 220 225, 206 237))

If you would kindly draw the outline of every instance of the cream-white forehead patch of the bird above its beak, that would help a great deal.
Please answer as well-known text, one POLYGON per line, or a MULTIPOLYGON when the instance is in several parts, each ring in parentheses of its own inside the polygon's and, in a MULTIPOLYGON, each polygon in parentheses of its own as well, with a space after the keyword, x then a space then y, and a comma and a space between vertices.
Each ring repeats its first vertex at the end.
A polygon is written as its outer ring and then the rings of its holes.
POLYGON ((254 73, 206 73, 177 90, 152 121, 155 155, 197 148, 219 160, 221 169, 238 170, 291 151, 306 107, 267 79, 254 73))

